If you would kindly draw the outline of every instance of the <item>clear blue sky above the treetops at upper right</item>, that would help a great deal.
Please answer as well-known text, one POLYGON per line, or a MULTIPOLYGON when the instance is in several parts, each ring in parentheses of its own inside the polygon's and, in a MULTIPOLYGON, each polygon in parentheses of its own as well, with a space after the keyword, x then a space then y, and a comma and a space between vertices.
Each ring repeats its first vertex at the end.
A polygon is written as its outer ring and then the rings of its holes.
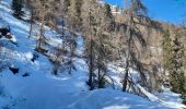
MULTIPOLYGON (((125 0, 105 0, 124 7, 125 0)), ((149 15, 159 21, 181 23, 186 16, 186 0, 141 0, 148 8, 149 15), (184 15, 185 14, 185 15, 184 15)))

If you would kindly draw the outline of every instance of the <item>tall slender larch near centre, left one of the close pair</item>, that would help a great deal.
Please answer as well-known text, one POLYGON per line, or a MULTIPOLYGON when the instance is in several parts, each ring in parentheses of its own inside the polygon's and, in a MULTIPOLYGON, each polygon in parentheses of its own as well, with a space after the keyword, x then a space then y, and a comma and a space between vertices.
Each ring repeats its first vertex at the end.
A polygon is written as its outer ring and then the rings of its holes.
POLYGON ((82 5, 82 16, 83 16, 83 36, 85 40, 85 55, 88 58, 88 66, 89 66, 89 80, 88 85, 90 86, 90 90, 94 89, 94 70, 95 70, 95 48, 94 48, 94 24, 95 17, 93 15, 94 8, 96 1, 95 0, 84 0, 82 5))

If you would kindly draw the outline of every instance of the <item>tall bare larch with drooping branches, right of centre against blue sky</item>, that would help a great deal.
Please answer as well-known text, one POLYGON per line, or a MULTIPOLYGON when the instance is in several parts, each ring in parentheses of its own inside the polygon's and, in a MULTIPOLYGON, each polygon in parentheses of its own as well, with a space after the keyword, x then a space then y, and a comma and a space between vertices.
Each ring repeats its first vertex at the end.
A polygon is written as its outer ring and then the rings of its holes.
POLYGON ((143 36, 140 34, 140 29, 138 28, 138 23, 136 21, 142 20, 142 17, 147 16, 146 7, 142 4, 141 0, 126 0, 126 24, 127 31, 125 33, 126 36, 126 63, 125 63, 125 76, 123 81, 123 92, 127 92, 128 87, 131 86, 132 82, 129 80, 130 68, 136 69, 141 76, 141 83, 146 84, 147 78, 144 72, 142 71, 142 64, 140 62, 140 57, 138 55, 138 49, 136 46, 136 38, 140 41, 141 46, 146 46, 146 41, 143 40, 143 36), (136 68, 135 68, 136 66, 136 68))

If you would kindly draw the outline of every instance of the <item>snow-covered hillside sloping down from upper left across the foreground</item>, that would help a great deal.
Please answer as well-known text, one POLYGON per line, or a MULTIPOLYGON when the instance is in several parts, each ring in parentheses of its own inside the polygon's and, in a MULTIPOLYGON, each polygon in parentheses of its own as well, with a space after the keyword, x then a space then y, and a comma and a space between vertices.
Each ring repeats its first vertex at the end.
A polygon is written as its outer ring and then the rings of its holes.
MULTIPOLYGON (((47 57, 36 52, 34 38, 27 38, 30 24, 12 16, 11 0, 0 4, 0 26, 10 25, 18 45, 0 39, 1 63, 19 69, 13 74, 9 68, 0 72, 0 109, 182 109, 184 106, 168 89, 152 95, 139 86, 149 97, 142 98, 119 90, 119 76, 113 70, 117 90, 105 88, 89 90, 86 86, 88 66, 83 59, 75 58, 77 71, 72 75, 51 74, 53 65, 47 57), (37 59, 32 61, 34 55, 37 59)), ((46 27, 50 44, 61 43, 46 27)), ((81 43, 80 43, 81 44, 81 43)), ((82 45, 81 45, 82 46, 82 45)), ((81 48, 81 47, 80 47, 81 48)), ((81 51, 81 50, 80 50, 81 51)), ((118 68, 118 71, 120 69, 118 68)))

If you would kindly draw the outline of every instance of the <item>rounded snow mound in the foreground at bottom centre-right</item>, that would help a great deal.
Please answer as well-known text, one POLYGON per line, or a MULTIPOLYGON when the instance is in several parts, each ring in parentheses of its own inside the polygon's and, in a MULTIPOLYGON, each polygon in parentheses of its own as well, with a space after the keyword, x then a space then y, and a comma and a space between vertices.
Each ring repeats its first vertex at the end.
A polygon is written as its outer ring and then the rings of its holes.
POLYGON ((142 97, 113 89, 84 92, 77 97, 74 102, 62 109, 166 109, 142 97))

